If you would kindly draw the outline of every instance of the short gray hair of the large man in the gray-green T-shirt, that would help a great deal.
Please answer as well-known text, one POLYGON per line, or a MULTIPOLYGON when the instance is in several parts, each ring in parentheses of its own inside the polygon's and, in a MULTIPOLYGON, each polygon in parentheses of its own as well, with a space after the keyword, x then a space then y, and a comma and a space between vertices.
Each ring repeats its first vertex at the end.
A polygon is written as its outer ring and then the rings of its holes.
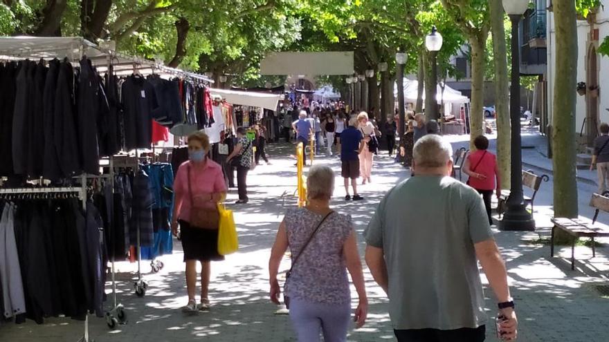
POLYGON ((416 167, 444 167, 453 158, 453 146, 439 135, 428 134, 417 141, 412 156, 416 167))

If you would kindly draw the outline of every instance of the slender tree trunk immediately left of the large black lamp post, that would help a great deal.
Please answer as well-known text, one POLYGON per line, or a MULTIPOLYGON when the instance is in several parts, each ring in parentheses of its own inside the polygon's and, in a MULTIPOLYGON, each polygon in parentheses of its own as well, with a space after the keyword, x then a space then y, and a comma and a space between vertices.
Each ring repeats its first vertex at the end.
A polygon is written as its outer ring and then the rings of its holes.
POLYGON ((501 0, 490 0, 491 31, 495 59, 495 113, 497 118, 497 164, 501 189, 510 189, 511 131, 509 122, 509 76, 507 74, 507 44, 501 0))

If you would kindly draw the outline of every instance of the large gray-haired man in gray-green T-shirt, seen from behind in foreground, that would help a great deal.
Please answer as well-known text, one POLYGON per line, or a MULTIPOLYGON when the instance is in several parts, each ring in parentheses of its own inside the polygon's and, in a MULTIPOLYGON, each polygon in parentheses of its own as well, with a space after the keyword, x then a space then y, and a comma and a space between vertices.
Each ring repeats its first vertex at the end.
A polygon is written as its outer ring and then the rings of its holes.
POLYGON ((439 135, 414 149, 415 176, 391 189, 365 229, 365 260, 389 297, 399 342, 484 341, 478 260, 498 303, 498 333, 518 336, 505 264, 478 192, 451 178, 453 149, 439 135))

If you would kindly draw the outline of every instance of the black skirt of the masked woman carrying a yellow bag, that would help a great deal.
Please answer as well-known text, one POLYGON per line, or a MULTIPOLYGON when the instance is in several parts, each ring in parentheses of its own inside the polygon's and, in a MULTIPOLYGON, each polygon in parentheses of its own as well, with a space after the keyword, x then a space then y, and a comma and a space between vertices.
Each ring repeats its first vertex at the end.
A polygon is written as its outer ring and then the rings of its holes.
POLYGON ((184 261, 220 261, 224 256, 218 253, 218 229, 199 229, 180 220, 180 235, 184 261))

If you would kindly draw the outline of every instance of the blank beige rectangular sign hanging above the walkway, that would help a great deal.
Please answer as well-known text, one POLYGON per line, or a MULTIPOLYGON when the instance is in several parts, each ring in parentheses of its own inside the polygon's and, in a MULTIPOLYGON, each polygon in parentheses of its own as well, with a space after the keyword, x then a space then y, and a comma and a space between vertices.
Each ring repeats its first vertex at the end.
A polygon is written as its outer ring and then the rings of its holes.
POLYGON ((269 53, 260 63, 261 75, 352 75, 352 51, 329 53, 269 53))

